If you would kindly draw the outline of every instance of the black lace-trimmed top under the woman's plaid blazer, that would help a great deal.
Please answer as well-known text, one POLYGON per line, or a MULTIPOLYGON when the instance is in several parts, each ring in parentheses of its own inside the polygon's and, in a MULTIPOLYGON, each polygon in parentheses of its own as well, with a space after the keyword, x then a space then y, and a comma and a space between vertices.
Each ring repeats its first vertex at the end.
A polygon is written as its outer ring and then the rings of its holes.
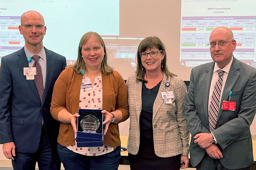
POLYGON ((142 84, 142 108, 140 113, 140 129, 151 130, 153 129, 152 117, 153 117, 153 105, 156 100, 159 87, 162 80, 152 89, 148 89, 146 85, 142 84))

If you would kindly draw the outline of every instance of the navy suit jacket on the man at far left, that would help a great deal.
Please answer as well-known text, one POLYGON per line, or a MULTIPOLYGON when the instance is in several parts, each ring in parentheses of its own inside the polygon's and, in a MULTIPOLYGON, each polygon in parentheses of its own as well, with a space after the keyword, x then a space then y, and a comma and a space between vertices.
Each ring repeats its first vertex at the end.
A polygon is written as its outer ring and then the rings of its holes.
POLYGON ((46 80, 41 102, 34 80, 27 80, 24 47, 1 59, 0 143, 14 142, 16 151, 35 153, 40 142, 42 116, 53 152, 57 151, 59 122, 52 118, 50 105, 54 83, 66 67, 66 58, 46 48, 46 80))

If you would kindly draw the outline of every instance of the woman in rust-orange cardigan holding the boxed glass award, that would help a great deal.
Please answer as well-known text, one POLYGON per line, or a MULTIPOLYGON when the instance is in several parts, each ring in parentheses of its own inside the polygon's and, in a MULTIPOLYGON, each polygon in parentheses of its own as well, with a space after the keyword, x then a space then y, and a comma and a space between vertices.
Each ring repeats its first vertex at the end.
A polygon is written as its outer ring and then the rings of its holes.
POLYGON ((62 71, 52 94, 51 114, 60 122, 58 152, 64 168, 117 169, 121 158, 118 123, 128 119, 128 110, 127 87, 121 75, 108 66, 103 40, 98 33, 85 33, 76 63, 62 71), (82 80, 92 86, 80 88, 82 80), (103 110, 103 146, 77 147, 79 108, 103 110))

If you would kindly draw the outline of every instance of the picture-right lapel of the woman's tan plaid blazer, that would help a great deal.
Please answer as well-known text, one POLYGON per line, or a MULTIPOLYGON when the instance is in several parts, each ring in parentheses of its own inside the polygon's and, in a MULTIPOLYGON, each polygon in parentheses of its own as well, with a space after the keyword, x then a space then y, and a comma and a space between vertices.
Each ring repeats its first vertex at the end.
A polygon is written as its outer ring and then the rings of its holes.
MULTIPOLYGON (((154 118, 156 116, 156 113, 158 112, 159 108, 164 103, 161 92, 171 91, 172 85, 170 85, 168 87, 165 87, 166 82, 170 82, 170 77, 167 76, 166 74, 164 74, 163 75, 163 80, 161 82, 158 93, 156 95, 156 100, 155 100, 154 105, 153 105, 153 120, 154 120, 154 118)), ((172 83, 170 82, 170 84, 172 84, 172 83)))

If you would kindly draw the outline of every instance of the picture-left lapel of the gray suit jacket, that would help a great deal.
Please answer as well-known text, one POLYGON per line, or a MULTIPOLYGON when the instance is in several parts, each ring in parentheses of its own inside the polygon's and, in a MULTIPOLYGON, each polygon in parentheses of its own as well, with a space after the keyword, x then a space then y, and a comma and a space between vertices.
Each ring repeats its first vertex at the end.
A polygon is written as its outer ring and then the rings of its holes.
POLYGON ((208 122, 208 100, 209 100, 209 92, 212 81, 212 73, 213 73, 214 62, 212 65, 205 70, 205 74, 202 76, 201 81, 203 81, 202 92, 203 92, 203 105, 204 105, 204 115, 206 122, 208 122))

